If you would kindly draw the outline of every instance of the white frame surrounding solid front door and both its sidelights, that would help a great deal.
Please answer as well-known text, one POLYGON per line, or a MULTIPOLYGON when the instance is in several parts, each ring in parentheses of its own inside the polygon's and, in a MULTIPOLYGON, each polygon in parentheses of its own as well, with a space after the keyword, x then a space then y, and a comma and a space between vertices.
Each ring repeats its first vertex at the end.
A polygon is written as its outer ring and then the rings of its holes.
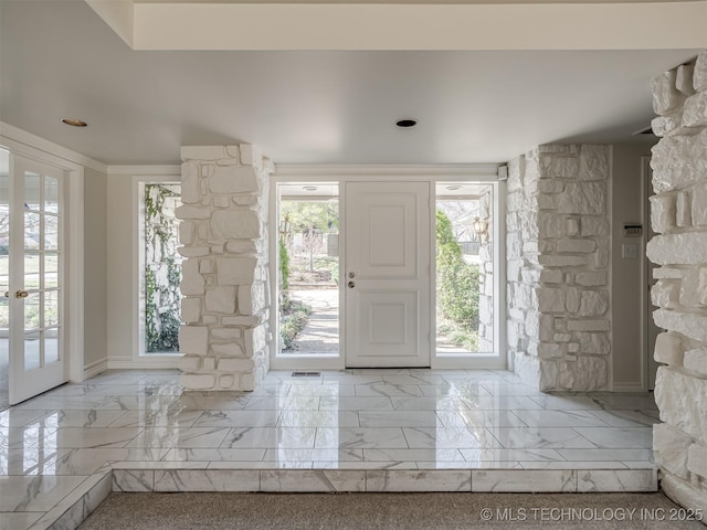
MULTIPOLYGON (((497 264, 494 284, 494 315, 497 325, 494 329, 495 352, 490 356, 440 356, 433 349, 431 356, 432 369, 506 369, 507 357, 506 337, 502 332, 506 321, 505 304, 505 180, 499 179, 502 165, 344 165, 344 166, 299 166, 277 165, 271 177, 270 212, 268 212, 268 248, 270 248, 270 282, 271 282, 271 368, 274 370, 342 370, 346 363, 346 321, 344 289, 339 289, 339 356, 279 356, 276 332, 278 329, 278 296, 277 296, 277 227, 278 203, 277 184, 292 182, 337 182, 339 184, 339 264, 346 263, 346 182, 366 181, 424 181, 430 182, 432 190, 437 182, 483 182, 494 186, 494 219, 493 237, 497 242, 494 245, 494 261, 497 264)), ((434 227, 435 193, 430 193, 431 226, 434 227)), ((430 248, 435 248, 435 231, 430 231, 430 248)), ((339 285, 344 285, 345 267, 339 266, 339 285)), ((435 259, 431 261, 431 277, 436 277, 435 259)), ((430 285, 431 307, 436 305, 435 282, 430 285)), ((431 330, 436 328, 435 311, 430 311, 431 330)))

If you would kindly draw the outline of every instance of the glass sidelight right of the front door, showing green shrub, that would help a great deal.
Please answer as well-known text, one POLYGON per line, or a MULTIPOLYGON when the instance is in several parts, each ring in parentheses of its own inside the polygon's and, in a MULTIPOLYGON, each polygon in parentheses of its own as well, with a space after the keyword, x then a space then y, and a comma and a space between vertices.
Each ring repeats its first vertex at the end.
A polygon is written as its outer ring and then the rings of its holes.
POLYGON ((437 354, 494 352, 493 187, 437 183, 437 354))

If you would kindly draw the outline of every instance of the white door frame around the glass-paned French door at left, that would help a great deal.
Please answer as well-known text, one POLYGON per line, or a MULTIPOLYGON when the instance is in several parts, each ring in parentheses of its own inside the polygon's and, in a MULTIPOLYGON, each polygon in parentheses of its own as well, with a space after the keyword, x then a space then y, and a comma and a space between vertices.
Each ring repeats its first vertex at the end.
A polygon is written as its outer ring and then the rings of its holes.
MULTIPOLYGON (((10 151, 12 157, 20 156, 36 162, 52 166, 66 173, 64 190, 64 208, 66 210, 64 225, 64 344, 66 381, 81 382, 84 373, 84 166, 63 158, 74 157, 71 151, 20 129, 2 124, 0 146, 10 151), (10 136, 11 135, 11 136, 10 136), (38 147, 33 147, 33 145, 38 147)), ((81 157, 83 158, 83 157, 81 157)), ((86 159, 86 166, 96 166, 86 159)), ((84 162, 84 160, 82 160, 84 162)), ((104 170, 104 168, 95 168, 104 170)), ((10 368, 12 373, 12 368, 10 368)))

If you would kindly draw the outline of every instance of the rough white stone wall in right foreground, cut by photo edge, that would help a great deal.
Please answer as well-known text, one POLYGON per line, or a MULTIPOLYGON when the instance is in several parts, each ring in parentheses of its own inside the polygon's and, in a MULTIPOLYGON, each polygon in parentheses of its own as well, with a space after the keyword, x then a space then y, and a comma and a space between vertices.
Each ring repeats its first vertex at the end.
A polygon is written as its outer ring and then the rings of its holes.
POLYGON ((661 265, 651 296, 658 309, 655 401, 661 423, 653 448, 661 485, 684 507, 707 513, 707 52, 653 82, 659 116, 653 130, 651 222, 647 245, 661 265))

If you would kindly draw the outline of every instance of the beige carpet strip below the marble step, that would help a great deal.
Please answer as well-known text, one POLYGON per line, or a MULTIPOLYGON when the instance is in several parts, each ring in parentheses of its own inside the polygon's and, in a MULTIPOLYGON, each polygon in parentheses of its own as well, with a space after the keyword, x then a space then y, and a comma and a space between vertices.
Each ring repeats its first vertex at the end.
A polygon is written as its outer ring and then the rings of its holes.
POLYGON ((686 516, 663 494, 112 494, 80 529, 705 530, 686 516))

